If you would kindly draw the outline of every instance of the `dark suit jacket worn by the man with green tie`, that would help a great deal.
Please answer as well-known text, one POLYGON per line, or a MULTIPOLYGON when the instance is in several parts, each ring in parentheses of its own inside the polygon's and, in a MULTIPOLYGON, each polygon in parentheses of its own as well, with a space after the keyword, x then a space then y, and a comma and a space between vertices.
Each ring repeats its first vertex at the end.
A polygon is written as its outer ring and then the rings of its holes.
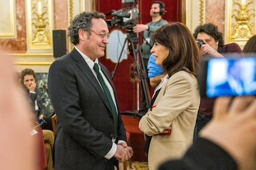
MULTIPOLYGON (((100 67, 113 86, 106 67, 101 64, 100 67)), ((49 68, 48 90, 58 119, 55 169, 112 169, 113 161, 117 164, 116 158, 104 158, 112 147, 114 133, 111 108, 95 75, 77 50, 53 62, 49 68)), ((118 132, 117 140, 126 141, 120 114, 118 132)))

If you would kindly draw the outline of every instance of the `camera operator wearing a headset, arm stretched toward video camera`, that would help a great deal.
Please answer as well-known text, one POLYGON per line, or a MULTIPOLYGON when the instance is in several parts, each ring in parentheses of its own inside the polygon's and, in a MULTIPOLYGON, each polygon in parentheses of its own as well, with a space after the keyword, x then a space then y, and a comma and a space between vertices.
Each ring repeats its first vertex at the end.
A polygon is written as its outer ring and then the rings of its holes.
POLYGON ((162 19, 164 14, 164 3, 161 1, 153 1, 150 9, 150 16, 152 21, 147 24, 137 24, 134 26, 134 33, 143 33, 143 44, 142 44, 142 59, 147 70, 148 59, 150 57, 150 49, 153 46, 152 34, 155 30, 160 28, 162 25, 168 23, 166 20, 162 19))

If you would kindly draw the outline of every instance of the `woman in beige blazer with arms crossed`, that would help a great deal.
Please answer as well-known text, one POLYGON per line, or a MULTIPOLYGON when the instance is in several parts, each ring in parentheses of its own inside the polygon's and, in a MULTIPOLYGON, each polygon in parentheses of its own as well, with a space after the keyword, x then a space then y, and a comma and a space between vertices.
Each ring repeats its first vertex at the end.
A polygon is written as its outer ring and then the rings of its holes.
POLYGON ((197 81, 200 52, 187 26, 179 22, 164 25, 155 31, 153 41, 151 52, 166 76, 139 123, 145 136, 151 137, 150 170, 157 169, 163 161, 181 157, 192 144, 200 103, 197 81))

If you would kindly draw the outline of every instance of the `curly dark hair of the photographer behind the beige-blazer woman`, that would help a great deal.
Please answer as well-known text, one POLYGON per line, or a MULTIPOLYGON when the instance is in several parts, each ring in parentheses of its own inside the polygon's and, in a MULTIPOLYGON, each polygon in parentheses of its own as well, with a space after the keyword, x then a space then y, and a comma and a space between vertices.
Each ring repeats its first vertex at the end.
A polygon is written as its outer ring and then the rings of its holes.
POLYGON ((218 46, 223 47, 224 46, 224 40, 223 40, 223 34, 218 31, 218 26, 213 25, 212 23, 205 23, 203 25, 197 26, 194 31, 194 38, 197 39, 198 33, 206 33, 209 36, 212 36, 215 41, 219 41, 218 46))

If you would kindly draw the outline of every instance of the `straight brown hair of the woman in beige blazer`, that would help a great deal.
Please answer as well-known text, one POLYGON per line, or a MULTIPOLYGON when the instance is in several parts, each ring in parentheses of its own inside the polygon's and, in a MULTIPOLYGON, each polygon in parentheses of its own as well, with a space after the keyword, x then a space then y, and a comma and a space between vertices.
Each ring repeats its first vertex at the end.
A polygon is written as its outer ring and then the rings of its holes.
POLYGON ((153 41, 169 49, 163 69, 169 76, 177 71, 198 75, 200 51, 189 28, 180 22, 161 26, 153 34, 153 41))

